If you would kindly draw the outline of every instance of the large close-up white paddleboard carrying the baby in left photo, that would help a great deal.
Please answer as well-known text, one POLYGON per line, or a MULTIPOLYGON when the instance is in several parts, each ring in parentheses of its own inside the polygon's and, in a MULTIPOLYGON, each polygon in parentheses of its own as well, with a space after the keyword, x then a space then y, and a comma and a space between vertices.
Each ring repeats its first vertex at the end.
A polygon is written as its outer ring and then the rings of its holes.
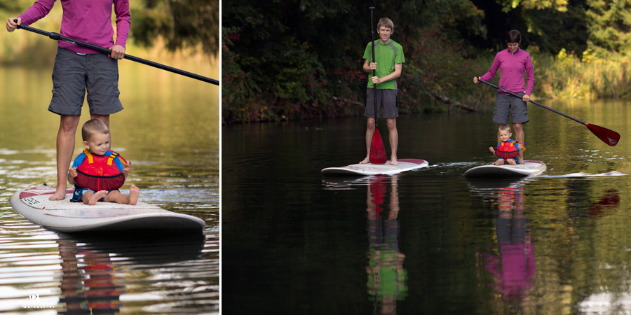
POLYGON ((117 230, 198 230, 206 224, 201 218, 161 209, 144 202, 135 206, 97 202, 88 206, 70 202, 74 188, 66 190, 64 200, 50 201, 53 186, 18 190, 11 197, 11 207, 29 221, 60 232, 102 232, 117 230))

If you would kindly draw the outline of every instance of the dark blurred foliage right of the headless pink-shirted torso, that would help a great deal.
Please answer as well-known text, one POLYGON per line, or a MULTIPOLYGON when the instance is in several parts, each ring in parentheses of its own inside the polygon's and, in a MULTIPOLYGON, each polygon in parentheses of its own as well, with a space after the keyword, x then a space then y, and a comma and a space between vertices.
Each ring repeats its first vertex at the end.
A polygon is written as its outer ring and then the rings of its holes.
POLYGON ((151 46, 163 38, 170 51, 196 48, 208 55, 219 52, 218 0, 145 0, 145 7, 132 7, 131 31, 140 45, 151 46))

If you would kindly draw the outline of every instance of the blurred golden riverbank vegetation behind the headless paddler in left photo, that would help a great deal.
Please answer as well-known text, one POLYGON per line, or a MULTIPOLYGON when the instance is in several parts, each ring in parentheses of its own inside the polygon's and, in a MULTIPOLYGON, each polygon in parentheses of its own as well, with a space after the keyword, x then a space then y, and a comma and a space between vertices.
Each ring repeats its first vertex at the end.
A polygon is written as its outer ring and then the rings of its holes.
MULTIPOLYGON (((6 21, 33 3, 34 0, 0 0, 0 16, 6 21)), ((198 66, 204 71, 219 66, 219 1, 130 1, 130 13, 126 48, 130 55, 175 67, 198 66)), ((32 27, 59 32, 61 20, 62 6, 57 1, 53 10, 32 27)), ((114 25, 115 20, 113 15, 114 25)), ((57 44, 46 36, 19 30, 9 34, 3 30, 0 38, 2 66, 52 66, 55 61, 57 44)))

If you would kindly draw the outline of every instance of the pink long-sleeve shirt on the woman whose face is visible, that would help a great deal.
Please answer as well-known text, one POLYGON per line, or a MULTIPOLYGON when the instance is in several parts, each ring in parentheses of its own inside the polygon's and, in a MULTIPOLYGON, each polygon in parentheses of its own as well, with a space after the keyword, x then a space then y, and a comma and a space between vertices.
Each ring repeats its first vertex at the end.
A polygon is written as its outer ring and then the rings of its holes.
MULTIPOLYGON (((532 93, 534 71, 532 69, 532 60, 528 52, 525 52, 521 48, 517 48, 515 53, 511 53, 508 48, 498 52, 497 55, 495 55, 491 69, 480 79, 485 81, 491 80, 498 69, 500 71, 499 87, 513 93, 521 93, 524 91, 526 95, 532 93), (528 88, 524 86, 524 73, 528 75, 528 88)), ((501 90, 497 91, 501 92, 501 90)))

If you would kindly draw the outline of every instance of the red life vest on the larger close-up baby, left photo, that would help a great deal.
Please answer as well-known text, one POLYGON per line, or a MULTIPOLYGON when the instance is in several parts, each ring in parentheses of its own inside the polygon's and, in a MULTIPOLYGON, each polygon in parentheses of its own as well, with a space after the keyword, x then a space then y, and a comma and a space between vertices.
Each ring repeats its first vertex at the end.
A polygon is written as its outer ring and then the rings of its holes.
MULTIPOLYGON (((125 183, 125 176, 118 169, 114 159, 116 157, 125 161, 116 152, 111 155, 93 155, 88 149, 83 150, 86 158, 76 168, 74 182, 77 186, 93 191, 118 189, 125 183)), ((127 161, 125 161, 127 163, 127 161)))

